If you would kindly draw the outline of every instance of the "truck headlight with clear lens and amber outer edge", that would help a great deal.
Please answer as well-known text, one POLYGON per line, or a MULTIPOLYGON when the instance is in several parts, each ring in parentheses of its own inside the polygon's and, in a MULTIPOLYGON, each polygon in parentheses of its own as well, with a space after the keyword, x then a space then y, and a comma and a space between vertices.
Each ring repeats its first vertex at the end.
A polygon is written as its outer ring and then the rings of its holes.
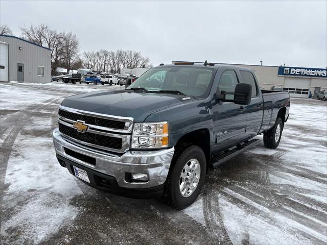
POLYGON ((131 148, 163 148, 167 146, 167 121, 134 125, 131 148))

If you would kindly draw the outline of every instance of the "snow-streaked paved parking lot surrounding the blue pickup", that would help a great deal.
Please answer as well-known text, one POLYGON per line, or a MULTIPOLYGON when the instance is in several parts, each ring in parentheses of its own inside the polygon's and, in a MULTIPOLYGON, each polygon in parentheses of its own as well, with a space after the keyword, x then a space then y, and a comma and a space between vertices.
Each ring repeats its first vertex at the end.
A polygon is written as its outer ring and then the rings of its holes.
POLYGON ((56 160, 63 98, 122 88, 0 84, 2 244, 327 243, 326 102, 292 99, 277 149, 260 143, 209 170, 198 200, 176 211, 90 188, 56 160))

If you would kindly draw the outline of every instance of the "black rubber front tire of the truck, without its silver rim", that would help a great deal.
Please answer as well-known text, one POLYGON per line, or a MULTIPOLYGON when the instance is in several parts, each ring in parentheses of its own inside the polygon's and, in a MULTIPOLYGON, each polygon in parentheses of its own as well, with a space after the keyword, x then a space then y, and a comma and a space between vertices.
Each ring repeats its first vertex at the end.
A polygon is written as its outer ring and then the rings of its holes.
POLYGON ((202 149, 197 145, 191 145, 176 151, 172 160, 168 177, 164 187, 164 201, 176 209, 184 209, 190 206, 197 199, 204 184, 206 174, 206 160, 202 149), (179 190, 180 175, 184 165, 191 159, 197 159, 200 163, 200 178, 198 185, 189 197, 183 197, 179 190))

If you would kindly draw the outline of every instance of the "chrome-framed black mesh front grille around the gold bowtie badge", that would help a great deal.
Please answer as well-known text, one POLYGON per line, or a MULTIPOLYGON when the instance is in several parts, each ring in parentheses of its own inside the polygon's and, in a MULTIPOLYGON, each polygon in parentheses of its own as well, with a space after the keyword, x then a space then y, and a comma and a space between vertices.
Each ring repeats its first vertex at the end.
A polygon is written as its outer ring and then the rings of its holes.
POLYGON ((133 118, 116 117, 94 112, 76 110, 64 106, 58 111, 59 131, 70 140, 92 148, 124 153, 129 150, 133 118), (83 123, 85 131, 75 124, 83 123))

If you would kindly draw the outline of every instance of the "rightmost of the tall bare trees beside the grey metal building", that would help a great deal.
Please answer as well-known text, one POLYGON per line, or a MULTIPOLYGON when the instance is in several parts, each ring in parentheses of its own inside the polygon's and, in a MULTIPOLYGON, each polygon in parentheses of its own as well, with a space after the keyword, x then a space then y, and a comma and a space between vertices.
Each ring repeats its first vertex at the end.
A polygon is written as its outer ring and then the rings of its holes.
POLYGON ((69 32, 62 34, 63 61, 67 72, 72 69, 79 60, 79 41, 75 34, 69 32))

